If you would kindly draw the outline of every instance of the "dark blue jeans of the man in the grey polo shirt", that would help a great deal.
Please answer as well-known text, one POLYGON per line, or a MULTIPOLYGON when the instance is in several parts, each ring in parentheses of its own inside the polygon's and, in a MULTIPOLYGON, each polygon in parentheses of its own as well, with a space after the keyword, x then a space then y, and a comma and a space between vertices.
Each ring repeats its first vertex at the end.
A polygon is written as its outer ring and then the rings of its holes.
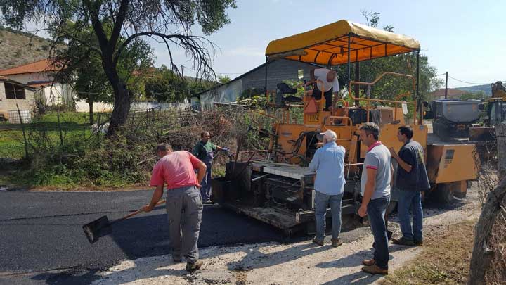
POLYGON ((375 238, 374 259, 376 265, 382 269, 388 269, 388 236, 387 226, 384 222, 384 214, 389 203, 390 195, 384 196, 369 201, 367 209, 372 235, 375 238))

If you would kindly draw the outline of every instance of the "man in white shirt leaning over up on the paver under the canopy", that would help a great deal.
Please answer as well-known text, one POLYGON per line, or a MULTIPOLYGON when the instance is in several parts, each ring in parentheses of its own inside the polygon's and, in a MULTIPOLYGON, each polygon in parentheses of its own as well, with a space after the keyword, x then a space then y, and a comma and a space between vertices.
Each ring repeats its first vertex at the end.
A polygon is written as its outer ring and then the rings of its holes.
POLYGON ((316 80, 316 86, 313 89, 314 98, 320 100, 323 91, 323 96, 325 96, 325 110, 330 110, 330 106, 334 106, 332 94, 334 94, 333 98, 336 99, 339 93, 337 73, 327 68, 315 68, 309 72, 309 75, 311 76, 311 80, 316 80))

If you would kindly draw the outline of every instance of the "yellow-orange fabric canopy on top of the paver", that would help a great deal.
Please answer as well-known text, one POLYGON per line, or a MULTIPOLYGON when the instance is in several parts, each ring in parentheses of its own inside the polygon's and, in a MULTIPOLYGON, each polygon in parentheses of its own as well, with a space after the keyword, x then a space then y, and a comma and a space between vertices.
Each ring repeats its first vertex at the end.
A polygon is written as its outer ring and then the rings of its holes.
POLYGON ((350 62, 356 62, 412 51, 420 51, 420 43, 412 37, 339 20, 270 42, 266 58, 268 61, 286 58, 319 65, 339 65, 348 63, 348 54, 350 62))

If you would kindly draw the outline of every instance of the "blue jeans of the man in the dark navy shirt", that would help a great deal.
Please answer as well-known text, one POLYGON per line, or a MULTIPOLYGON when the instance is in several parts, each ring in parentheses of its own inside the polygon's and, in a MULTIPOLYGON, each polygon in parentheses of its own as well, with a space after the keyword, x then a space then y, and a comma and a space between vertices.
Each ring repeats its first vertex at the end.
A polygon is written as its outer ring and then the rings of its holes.
POLYGON ((397 208, 404 239, 422 241, 422 192, 401 191, 397 208), (410 208, 413 212, 413 228, 411 227, 410 208))

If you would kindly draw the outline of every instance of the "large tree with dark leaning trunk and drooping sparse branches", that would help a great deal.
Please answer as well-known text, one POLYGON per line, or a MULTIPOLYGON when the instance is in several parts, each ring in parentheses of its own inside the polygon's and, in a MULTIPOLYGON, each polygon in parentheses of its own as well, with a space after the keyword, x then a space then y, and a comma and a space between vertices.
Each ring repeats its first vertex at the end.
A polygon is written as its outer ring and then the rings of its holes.
POLYGON ((216 32, 230 23, 226 8, 235 8, 235 0, 2 0, 0 19, 17 28, 27 22, 42 23, 55 34, 67 33, 69 44, 80 42, 100 54, 115 97, 108 131, 112 135, 126 121, 134 97, 118 72, 125 49, 140 37, 158 39, 167 46, 171 68, 177 73, 181 72, 173 62, 174 46, 186 51, 197 75, 216 80, 210 66, 213 44, 190 29, 199 23, 206 35, 216 32), (72 31, 67 30, 69 20, 75 23, 72 31), (96 34, 98 48, 79 37, 79 31, 89 27, 96 34))

